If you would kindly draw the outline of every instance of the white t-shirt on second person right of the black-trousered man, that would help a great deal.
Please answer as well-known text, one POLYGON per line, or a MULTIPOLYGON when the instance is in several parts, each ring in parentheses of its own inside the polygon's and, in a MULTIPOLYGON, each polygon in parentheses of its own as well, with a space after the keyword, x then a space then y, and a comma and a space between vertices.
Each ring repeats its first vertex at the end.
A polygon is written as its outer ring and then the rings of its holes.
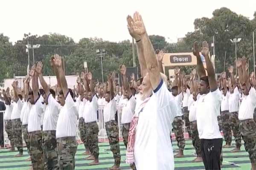
POLYGON ((230 113, 239 111, 239 99, 240 99, 240 94, 238 91, 238 87, 236 87, 234 89, 233 94, 230 94, 230 97, 228 99, 230 113))

